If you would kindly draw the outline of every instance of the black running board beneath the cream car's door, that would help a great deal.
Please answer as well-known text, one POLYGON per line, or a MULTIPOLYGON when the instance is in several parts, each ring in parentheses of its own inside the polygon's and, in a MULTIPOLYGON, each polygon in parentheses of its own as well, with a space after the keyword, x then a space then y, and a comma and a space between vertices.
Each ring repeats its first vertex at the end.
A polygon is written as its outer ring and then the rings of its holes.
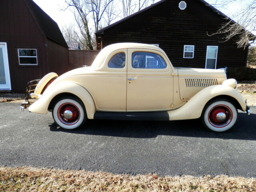
POLYGON ((169 121, 167 111, 159 112, 101 112, 94 113, 94 119, 104 120, 150 120, 150 121, 169 121))

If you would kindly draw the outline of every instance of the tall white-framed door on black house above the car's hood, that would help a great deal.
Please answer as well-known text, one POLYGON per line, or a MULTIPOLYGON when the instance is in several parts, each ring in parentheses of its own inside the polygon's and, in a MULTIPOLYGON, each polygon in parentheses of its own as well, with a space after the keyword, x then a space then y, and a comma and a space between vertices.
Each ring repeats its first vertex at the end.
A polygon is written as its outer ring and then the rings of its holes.
POLYGON ((206 69, 216 69, 217 56, 218 46, 207 46, 205 62, 206 69))

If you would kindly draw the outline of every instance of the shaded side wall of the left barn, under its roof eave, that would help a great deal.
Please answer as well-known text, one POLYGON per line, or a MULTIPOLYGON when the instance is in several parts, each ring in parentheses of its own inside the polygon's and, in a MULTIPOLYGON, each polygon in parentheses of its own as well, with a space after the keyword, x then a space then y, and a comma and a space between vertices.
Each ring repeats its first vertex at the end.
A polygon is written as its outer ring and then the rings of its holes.
POLYGON ((47 39, 49 72, 61 75, 69 70, 68 49, 50 39, 47 39))

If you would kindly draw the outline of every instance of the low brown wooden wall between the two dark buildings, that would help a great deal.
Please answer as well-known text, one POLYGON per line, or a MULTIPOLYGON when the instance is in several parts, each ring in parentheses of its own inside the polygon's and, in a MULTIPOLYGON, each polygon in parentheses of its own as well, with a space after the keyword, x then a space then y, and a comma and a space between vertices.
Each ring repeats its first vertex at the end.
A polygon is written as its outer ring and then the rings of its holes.
POLYGON ((96 50, 68 50, 70 70, 90 66, 100 51, 96 50))

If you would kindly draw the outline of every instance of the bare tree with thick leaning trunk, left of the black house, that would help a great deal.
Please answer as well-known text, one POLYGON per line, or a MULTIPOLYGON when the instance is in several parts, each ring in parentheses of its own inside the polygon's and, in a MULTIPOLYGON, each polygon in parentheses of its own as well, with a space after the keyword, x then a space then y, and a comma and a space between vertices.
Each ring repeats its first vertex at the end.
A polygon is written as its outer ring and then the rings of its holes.
POLYGON ((84 0, 65 0, 65 2, 68 4, 68 7, 74 8, 73 12, 76 23, 82 35, 82 38, 79 38, 79 35, 76 33, 79 41, 83 42, 85 49, 93 50, 92 38, 88 27, 88 14, 90 11, 88 10, 87 2, 84 0))

